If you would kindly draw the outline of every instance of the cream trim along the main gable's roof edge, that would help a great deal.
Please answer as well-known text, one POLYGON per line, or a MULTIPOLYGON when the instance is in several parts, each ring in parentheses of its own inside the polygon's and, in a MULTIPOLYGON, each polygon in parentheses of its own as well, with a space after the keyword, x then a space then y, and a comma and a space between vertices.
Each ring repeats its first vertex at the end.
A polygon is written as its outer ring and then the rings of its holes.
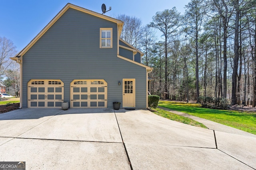
MULTIPOLYGON (((44 35, 44 33, 46 33, 46 31, 69 9, 69 8, 73 8, 75 10, 78 10, 78 11, 81 11, 81 12, 84 12, 84 13, 87 13, 87 14, 90 14, 90 15, 93 15, 93 16, 96 16, 98 18, 102 18, 102 19, 105 19, 105 20, 108 20, 108 21, 112 21, 114 23, 117 24, 118 26, 118 34, 119 34, 119 37, 120 37, 120 34, 121 34, 121 31, 122 31, 122 27, 124 25, 124 22, 123 21, 120 21, 120 20, 116 20, 114 18, 111 18, 111 17, 108 17, 108 16, 105 16, 105 15, 102 15, 102 14, 99 14, 97 12, 93 12, 91 10, 87 10, 85 8, 82 8, 82 7, 79 7, 79 6, 76 6, 76 5, 73 5, 73 4, 70 4, 68 3, 45 27, 44 29, 42 29, 42 31, 40 31, 40 33, 38 33, 38 35, 36 35, 36 37, 22 50, 20 51, 20 53, 18 53, 15 57, 19 57, 19 56, 22 56, 24 55, 35 43, 36 41, 38 41, 38 39, 40 39, 42 37, 42 35, 44 35)), ((14 57, 11 57, 12 59, 14 59, 14 57)), ((16 59, 15 59, 16 60, 16 59)))

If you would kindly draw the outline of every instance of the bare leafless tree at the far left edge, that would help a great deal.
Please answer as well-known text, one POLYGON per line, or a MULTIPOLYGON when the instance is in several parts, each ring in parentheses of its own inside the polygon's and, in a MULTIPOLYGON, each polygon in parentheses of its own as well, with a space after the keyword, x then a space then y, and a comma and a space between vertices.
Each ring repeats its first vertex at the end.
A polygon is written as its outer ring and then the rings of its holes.
POLYGON ((16 47, 10 39, 0 37, 0 79, 6 77, 6 70, 12 63, 10 57, 14 57, 16 47))

